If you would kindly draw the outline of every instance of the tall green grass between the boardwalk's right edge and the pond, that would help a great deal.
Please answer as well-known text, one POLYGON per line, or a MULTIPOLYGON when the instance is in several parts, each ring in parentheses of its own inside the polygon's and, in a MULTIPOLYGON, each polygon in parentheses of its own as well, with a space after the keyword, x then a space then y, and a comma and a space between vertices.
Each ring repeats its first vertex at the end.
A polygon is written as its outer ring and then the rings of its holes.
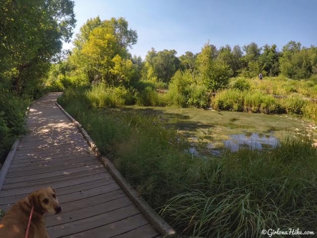
POLYGON ((277 148, 193 157, 157 117, 98 110, 85 92, 59 102, 87 129, 137 191, 181 235, 260 238, 263 229, 317 228, 317 151, 308 139, 277 148))

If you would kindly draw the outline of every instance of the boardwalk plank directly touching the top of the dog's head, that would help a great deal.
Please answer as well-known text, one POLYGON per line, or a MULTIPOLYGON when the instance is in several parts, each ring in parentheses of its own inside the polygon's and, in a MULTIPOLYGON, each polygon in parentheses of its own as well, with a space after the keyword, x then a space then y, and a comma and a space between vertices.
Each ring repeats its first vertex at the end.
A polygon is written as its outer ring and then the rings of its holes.
MULTIPOLYGON (((105 178, 111 178, 108 173, 101 173, 97 175, 90 175, 90 176, 84 176, 81 178, 76 178, 76 179, 70 179, 70 180, 65 180, 65 181, 60 181, 60 182, 49 182, 46 184, 41 184, 41 185, 35 185, 31 187, 22 187, 22 188, 14 188, 14 189, 8 189, 8 190, 2 190, 0 191, 0 197, 8 197, 8 196, 14 196, 14 195, 19 195, 19 194, 25 194, 25 193, 31 193, 33 191, 36 191, 42 187, 46 186, 52 186, 53 188, 61 188, 61 187, 68 187, 72 185, 77 185, 85 182, 90 182, 90 181, 97 181, 100 179, 105 179, 105 178)), ((58 194, 57 194, 58 195, 58 194)))

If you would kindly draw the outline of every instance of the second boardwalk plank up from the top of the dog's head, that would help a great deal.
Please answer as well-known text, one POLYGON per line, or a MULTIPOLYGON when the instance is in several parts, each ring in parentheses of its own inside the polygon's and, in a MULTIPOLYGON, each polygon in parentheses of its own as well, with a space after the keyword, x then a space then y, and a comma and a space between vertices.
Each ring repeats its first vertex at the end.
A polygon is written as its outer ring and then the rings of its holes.
POLYGON ((96 175, 100 173, 106 173, 104 168, 96 169, 96 170, 90 170, 90 171, 82 171, 74 174, 67 174, 63 176, 57 176, 53 178, 47 178, 47 179, 37 179, 37 180, 31 180, 31 181, 23 181, 23 182, 16 182, 16 183, 8 183, 3 184, 2 190, 7 189, 13 189, 13 188, 21 188, 21 187, 30 187, 35 185, 42 185, 47 183, 53 183, 58 181, 65 181, 69 179, 75 179, 75 178, 81 178, 86 177, 89 175, 96 175))

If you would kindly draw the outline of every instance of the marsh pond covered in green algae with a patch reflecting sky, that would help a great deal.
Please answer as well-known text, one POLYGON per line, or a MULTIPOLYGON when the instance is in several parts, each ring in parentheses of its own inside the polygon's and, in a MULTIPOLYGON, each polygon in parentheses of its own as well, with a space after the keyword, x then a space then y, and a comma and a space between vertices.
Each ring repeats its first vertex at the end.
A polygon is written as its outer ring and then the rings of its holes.
POLYGON ((155 116, 184 134, 191 144, 189 152, 218 155, 223 149, 237 151, 274 148, 286 137, 309 137, 317 142, 317 126, 299 117, 267 115, 197 108, 122 107, 124 112, 155 116))

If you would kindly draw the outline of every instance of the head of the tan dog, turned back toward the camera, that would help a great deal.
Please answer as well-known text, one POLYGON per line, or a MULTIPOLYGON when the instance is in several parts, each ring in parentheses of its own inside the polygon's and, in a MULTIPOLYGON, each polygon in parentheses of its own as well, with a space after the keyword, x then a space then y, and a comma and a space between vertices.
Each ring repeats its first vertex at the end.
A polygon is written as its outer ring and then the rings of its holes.
POLYGON ((34 207, 35 212, 39 214, 51 213, 57 214, 61 212, 61 207, 52 187, 43 188, 31 193, 27 197, 28 203, 34 207))

